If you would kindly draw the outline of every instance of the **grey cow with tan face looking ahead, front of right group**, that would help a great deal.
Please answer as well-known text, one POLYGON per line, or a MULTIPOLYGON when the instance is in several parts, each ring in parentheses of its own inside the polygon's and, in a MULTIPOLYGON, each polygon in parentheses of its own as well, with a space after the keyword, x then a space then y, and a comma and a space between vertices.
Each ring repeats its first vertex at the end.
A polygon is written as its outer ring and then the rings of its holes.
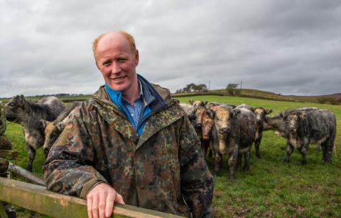
POLYGON ((249 170, 250 148, 256 133, 256 117, 249 109, 210 107, 208 114, 215 119, 212 143, 215 149, 215 173, 222 167, 222 155, 229 155, 229 178, 234 180, 239 154, 244 154, 244 170, 249 170))

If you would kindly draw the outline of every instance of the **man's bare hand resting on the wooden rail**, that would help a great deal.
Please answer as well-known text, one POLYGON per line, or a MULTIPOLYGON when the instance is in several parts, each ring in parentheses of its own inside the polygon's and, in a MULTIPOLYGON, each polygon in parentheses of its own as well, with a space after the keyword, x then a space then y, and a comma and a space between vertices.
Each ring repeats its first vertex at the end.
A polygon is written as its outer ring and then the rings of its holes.
POLYGON ((114 202, 124 205, 119 193, 107 183, 99 183, 87 194, 87 215, 89 218, 110 217, 114 202))

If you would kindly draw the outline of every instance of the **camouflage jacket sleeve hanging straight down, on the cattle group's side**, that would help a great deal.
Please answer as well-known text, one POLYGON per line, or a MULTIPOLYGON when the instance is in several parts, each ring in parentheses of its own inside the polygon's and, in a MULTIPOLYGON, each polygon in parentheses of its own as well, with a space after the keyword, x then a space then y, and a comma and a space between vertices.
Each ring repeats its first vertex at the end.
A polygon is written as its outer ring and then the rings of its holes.
POLYGON ((187 116, 180 129, 181 192, 193 217, 212 217, 213 178, 187 116))

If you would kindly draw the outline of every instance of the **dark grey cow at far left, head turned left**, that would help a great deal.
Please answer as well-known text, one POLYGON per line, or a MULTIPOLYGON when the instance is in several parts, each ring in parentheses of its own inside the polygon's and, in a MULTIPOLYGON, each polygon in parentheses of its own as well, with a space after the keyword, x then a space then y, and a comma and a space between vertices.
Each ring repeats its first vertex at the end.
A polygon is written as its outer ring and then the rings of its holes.
POLYGON ((6 119, 21 124, 28 149, 27 170, 32 171, 36 149, 44 144, 44 128, 40 119, 53 121, 65 109, 56 97, 44 97, 39 102, 30 102, 23 95, 12 97, 6 104, 6 119))

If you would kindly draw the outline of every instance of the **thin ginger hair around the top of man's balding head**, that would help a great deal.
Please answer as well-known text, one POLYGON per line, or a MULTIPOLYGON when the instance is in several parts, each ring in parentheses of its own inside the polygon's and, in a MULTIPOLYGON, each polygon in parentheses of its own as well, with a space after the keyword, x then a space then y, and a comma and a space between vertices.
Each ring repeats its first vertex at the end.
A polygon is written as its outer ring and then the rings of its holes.
POLYGON ((97 67, 99 67, 97 63, 97 52, 98 52, 97 49, 99 45, 101 44, 101 41, 102 40, 117 40, 121 38, 120 36, 123 36, 123 38, 129 44, 131 52, 134 54, 134 56, 137 55, 138 51, 136 49, 134 37, 131 36, 129 33, 126 33, 125 31, 113 31, 109 33, 104 33, 104 34, 97 36, 97 38, 94 40, 94 43, 92 43, 92 52, 94 53, 94 60, 96 62, 97 67))

